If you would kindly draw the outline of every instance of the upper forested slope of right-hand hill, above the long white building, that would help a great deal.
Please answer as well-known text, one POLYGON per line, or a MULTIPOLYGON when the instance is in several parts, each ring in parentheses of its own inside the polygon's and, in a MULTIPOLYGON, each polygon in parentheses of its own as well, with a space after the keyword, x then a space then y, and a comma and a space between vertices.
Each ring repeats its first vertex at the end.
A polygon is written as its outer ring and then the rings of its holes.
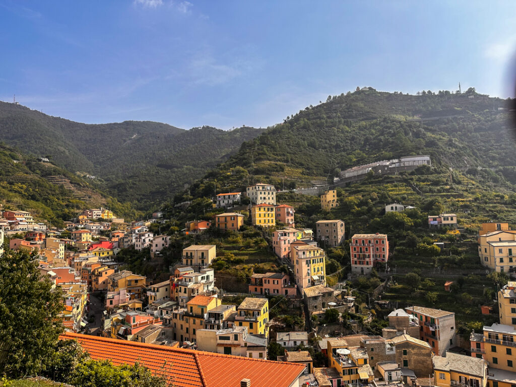
MULTIPOLYGON (((378 92, 365 88, 329 96, 242 144, 194 184, 194 197, 240 189, 245 182, 277 187, 331 182, 340 170, 399 156, 427 154, 438 166, 516 183, 516 147, 507 127, 509 101, 475 92, 378 92), (235 173, 236 171, 236 173, 235 173), (496 173, 499 172, 499 173, 496 173)), ((183 200, 179 197, 178 200, 183 200)))

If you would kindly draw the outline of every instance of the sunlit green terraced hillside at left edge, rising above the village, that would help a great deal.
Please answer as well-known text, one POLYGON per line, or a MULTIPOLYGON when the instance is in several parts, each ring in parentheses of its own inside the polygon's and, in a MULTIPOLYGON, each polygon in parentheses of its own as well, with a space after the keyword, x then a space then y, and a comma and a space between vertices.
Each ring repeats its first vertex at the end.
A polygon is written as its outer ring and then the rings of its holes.
POLYGON ((105 206, 117 216, 139 215, 130 204, 105 195, 91 183, 51 163, 41 163, 0 143, 0 204, 33 213, 35 220, 61 225, 89 206, 105 206), (50 176, 59 176, 52 184, 50 176))

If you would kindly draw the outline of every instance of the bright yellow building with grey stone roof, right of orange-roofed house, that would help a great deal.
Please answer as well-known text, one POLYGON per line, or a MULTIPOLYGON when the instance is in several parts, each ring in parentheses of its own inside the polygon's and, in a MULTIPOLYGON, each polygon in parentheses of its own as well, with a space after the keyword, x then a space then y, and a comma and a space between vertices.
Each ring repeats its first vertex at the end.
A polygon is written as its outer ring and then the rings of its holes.
POLYGON ((237 308, 235 326, 247 327, 249 334, 269 336, 269 301, 266 298, 246 297, 237 308))

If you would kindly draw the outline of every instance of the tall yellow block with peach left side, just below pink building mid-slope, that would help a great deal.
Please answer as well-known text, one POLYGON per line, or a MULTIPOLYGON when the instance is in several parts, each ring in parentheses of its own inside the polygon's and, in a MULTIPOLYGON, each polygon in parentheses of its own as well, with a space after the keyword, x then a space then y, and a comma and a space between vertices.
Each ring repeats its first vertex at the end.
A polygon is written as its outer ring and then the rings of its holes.
POLYGON ((298 286, 326 285, 326 258, 320 247, 291 245, 291 262, 298 286))

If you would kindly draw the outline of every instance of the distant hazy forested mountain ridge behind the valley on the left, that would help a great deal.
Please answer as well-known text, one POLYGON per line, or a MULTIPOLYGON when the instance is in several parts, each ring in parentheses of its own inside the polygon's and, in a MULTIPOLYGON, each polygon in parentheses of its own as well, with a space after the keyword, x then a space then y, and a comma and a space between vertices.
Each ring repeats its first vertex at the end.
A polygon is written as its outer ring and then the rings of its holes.
POLYGON ((84 124, 0 102, 0 140, 49 156, 72 172, 95 175, 111 195, 140 208, 171 198, 263 131, 209 126, 187 131, 151 121, 84 124))

